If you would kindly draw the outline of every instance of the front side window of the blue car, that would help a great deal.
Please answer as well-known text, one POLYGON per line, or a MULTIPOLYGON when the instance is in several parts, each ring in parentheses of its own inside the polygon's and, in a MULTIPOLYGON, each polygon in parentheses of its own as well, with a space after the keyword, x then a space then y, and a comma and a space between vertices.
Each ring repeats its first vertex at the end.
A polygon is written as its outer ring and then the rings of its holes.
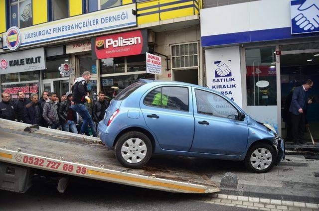
POLYGON ((238 110, 224 98, 210 92, 195 90, 197 112, 200 114, 238 119, 238 110))

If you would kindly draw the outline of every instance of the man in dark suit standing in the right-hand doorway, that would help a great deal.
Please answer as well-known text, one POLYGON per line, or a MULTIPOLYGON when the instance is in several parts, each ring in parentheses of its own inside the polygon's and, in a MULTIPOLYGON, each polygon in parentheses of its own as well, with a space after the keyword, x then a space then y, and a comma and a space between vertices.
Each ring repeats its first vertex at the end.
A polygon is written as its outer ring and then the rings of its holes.
POLYGON ((292 137, 295 144, 306 144, 303 141, 304 130, 306 125, 306 110, 308 104, 313 101, 308 99, 308 90, 314 86, 312 80, 306 80, 302 86, 296 87, 293 93, 292 102, 289 111, 292 112, 292 137))

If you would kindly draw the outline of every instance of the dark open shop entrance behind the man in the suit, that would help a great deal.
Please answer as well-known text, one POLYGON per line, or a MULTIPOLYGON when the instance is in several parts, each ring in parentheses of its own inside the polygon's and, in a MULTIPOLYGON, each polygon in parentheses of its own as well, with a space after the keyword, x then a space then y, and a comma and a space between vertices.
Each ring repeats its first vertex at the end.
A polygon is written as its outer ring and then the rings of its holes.
MULTIPOLYGON (((282 113, 282 136, 290 139, 290 114, 289 106, 294 87, 301 86, 302 83, 311 79, 314 87, 309 90, 309 98, 313 98, 313 104, 308 106, 306 121, 315 139, 319 141, 319 50, 295 50, 286 51, 280 56, 281 72, 281 113, 282 113)), ((304 139, 311 142, 310 133, 306 127, 304 139)))

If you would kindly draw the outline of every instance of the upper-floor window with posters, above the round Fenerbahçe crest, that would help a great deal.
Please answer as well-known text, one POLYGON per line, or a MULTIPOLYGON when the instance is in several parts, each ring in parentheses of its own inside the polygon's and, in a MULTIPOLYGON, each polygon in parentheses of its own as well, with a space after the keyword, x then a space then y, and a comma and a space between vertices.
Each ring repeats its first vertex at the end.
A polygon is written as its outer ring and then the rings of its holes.
POLYGON ((10 26, 32 25, 32 0, 10 0, 10 26))

